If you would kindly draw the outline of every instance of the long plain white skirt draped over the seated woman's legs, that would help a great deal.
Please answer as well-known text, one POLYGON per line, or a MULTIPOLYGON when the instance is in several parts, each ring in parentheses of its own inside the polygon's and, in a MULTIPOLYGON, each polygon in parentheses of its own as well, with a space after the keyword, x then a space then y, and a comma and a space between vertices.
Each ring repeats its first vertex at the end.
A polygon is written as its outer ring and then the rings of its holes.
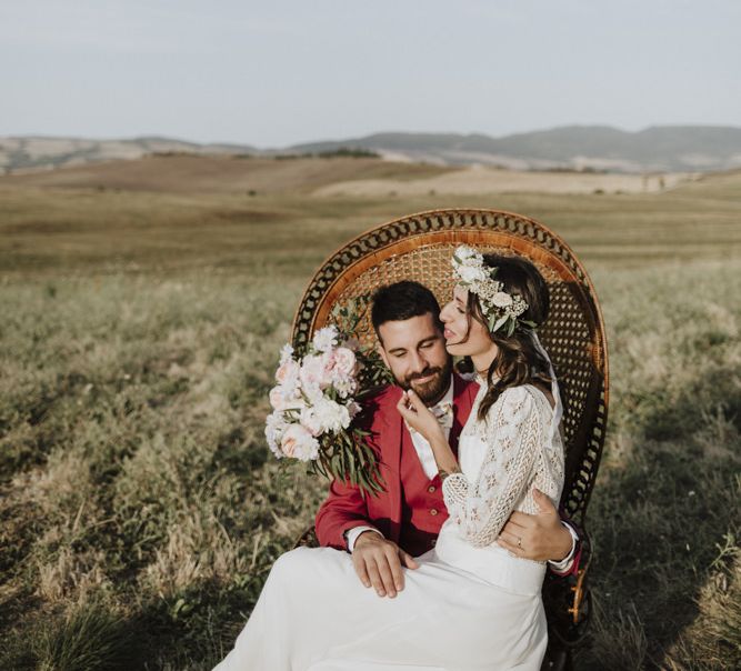
POLYGON ((540 669, 548 642, 540 594, 491 584, 434 550, 418 562, 389 599, 363 587, 347 552, 287 552, 214 671, 540 669))

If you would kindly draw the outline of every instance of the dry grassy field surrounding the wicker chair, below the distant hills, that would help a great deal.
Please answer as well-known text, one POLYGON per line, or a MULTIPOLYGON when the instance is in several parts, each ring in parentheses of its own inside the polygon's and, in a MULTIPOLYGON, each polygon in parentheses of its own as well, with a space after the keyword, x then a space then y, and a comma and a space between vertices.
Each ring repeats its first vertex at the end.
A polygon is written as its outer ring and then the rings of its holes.
POLYGON ((304 284, 361 230, 438 207, 543 221, 602 302, 610 425, 578 668, 741 665, 741 173, 651 194, 312 194, 438 173, 359 161, 266 161, 253 196, 211 188, 211 163, 173 166, 174 187, 167 159, 157 189, 126 164, 116 183, 0 179, 0 668, 220 659, 324 488, 262 437, 304 284))

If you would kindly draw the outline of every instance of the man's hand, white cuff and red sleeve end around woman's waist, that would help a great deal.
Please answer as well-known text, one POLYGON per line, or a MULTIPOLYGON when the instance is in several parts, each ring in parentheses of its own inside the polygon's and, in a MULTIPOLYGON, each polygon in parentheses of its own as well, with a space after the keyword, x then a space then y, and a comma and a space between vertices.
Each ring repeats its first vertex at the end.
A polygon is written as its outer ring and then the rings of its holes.
POLYGON ((533 498, 540 512, 513 512, 497 542, 518 557, 548 561, 558 575, 569 575, 579 568, 580 534, 569 520, 562 520, 551 500, 539 490, 533 498))

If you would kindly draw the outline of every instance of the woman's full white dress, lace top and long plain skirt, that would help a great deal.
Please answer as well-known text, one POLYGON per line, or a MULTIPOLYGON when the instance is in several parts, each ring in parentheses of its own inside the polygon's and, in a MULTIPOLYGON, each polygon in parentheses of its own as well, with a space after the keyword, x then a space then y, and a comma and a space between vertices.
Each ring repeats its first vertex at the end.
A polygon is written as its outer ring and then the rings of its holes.
POLYGON ((405 570, 395 599, 364 588, 350 554, 299 548, 273 565, 249 622, 218 671, 540 669, 545 564, 494 543, 513 510, 535 512, 532 488, 558 502, 563 447, 545 395, 505 390, 459 442, 461 473, 443 483, 450 518, 434 550, 405 570))

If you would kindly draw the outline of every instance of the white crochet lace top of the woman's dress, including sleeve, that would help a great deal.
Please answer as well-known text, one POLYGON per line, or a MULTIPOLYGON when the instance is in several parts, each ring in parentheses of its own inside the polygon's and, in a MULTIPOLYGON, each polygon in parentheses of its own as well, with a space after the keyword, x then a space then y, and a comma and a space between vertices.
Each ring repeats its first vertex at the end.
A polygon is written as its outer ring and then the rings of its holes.
POLYGON ((538 512, 533 487, 557 507, 563 487, 563 444, 558 431, 551 435, 553 411, 543 393, 529 384, 505 389, 485 421, 479 421, 484 393, 482 388, 477 395, 459 447, 482 441, 481 469, 478 474, 453 473, 442 484, 451 519, 477 548, 497 540, 513 510, 538 512))

